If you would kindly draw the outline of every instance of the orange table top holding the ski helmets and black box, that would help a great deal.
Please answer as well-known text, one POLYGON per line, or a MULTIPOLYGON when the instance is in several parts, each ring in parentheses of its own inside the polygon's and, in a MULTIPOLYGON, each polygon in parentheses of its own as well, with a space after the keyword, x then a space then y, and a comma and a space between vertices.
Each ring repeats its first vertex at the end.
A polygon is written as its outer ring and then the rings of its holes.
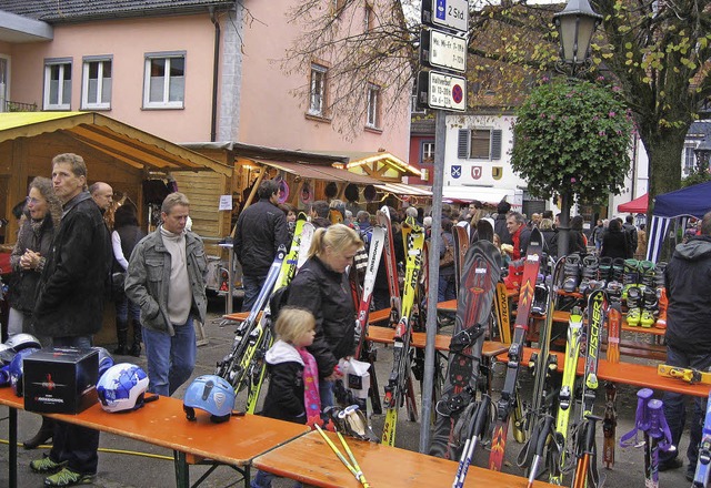
MULTIPOLYGON (((0 405, 23 408, 24 401, 11 388, 0 388, 0 405)), ((110 414, 97 403, 78 415, 48 416, 233 466, 246 466, 309 431, 304 425, 256 415, 232 417, 224 424, 213 424, 202 410, 196 415, 197 421, 188 421, 181 399, 160 397, 126 414, 110 414)))

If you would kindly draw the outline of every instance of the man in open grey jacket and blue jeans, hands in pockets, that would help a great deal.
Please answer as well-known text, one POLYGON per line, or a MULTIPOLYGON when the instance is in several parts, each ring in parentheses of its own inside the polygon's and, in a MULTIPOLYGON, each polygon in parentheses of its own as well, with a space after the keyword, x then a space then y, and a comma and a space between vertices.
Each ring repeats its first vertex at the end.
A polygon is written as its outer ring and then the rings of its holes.
POLYGON ((204 322, 207 311, 208 262, 202 240, 186 231, 189 211, 182 193, 163 200, 163 223, 136 245, 126 275, 126 295, 141 308, 148 389, 164 396, 192 374, 197 355, 192 321, 204 322))

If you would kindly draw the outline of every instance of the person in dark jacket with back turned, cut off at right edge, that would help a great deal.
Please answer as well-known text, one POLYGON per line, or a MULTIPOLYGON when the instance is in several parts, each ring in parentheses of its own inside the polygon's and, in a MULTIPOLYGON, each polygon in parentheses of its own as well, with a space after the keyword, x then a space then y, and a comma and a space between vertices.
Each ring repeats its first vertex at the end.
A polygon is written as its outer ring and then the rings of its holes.
MULTIPOLYGON (((664 272, 667 282, 667 364, 708 370, 711 366, 711 212, 703 216, 701 235, 679 244, 664 272)), ((694 397, 687 457, 687 479, 693 480, 699 459, 705 398, 694 397)), ((685 421, 685 398, 664 393, 664 416, 674 446, 679 446, 685 421)), ((677 451, 660 453, 659 470, 682 466, 677 451)))

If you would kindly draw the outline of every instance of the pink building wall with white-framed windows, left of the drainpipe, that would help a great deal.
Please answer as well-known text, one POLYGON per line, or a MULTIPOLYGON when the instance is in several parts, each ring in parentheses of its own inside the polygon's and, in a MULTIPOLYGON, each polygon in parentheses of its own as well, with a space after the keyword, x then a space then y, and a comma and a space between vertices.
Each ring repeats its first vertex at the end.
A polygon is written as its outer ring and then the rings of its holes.
POLYGON ((172 142, 209 141, 213 41, 208 14, 58 26, 51 42, 11 48, 10 99, 41 108, 44 60, 72 58, 71 110, 80 110, 82 57, 112 54, 111 110, 103 113, 172 142), (187 52, 184 109, 142 109, 144 54, 162 51, 187 52))

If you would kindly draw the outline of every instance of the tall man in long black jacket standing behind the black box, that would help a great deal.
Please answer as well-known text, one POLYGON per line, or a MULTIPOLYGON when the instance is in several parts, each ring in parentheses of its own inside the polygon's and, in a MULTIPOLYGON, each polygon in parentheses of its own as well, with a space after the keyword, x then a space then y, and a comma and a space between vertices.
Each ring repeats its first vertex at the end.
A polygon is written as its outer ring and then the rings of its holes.
MULTIPOLYGON (((62 220, 42 271, 34 308, 38 334, 54 347, 91 347, 101 329, 104 284, 111 267, 111 238, 99 206, 87 191, 87 165, 77 154, 52 160, 52 184, 62 220)), ((91 482, 97 474, 99 431, 57 421, 49 456, 30 462, 52 474, 47 486, 91 482)))

